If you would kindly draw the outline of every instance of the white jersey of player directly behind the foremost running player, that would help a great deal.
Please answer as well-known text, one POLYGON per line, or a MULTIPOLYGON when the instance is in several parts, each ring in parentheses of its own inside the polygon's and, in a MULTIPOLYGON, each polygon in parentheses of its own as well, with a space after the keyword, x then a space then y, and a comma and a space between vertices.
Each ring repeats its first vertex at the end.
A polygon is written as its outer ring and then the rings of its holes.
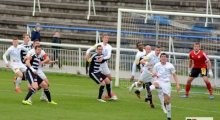
POLYGON ((151 66, 144 65, 144 67, 142 68, 143 71, 151 73, 154 65, 160 62, 160 55, 156 56, 155 51, 152 51, 144 57, 144 60, 146 60, 146 62, 150 62, 152 65, 151 66))

